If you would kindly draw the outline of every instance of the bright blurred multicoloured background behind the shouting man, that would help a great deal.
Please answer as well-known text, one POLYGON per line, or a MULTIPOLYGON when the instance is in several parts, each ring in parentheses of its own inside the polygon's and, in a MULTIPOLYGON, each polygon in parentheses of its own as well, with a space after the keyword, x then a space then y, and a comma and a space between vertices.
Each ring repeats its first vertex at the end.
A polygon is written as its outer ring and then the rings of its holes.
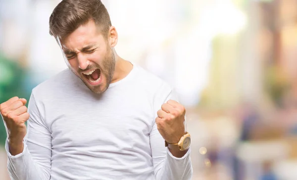
MULTIPOLYGON (((60 0, 0 0, 0 103, 67 68, 60 0)), ((116 50, 176 88, 193 180, 297 180, 297 0, 102 0, 116 50)), ((8 180, 0 120, 0 180, 8 180)))

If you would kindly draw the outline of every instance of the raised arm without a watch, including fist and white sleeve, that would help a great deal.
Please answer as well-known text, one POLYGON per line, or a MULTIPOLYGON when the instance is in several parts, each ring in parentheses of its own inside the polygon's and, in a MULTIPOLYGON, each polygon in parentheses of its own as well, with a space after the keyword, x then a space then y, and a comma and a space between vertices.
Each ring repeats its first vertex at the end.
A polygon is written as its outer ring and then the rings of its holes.
POLYGON ((12 180, 49 180, 51 135, 41 118, 32 93, 28 112, 26 99, 13 97, 0 105, 7 131, 5 149, 12 180), (28 120, 28 129, 25 122, 28 120))

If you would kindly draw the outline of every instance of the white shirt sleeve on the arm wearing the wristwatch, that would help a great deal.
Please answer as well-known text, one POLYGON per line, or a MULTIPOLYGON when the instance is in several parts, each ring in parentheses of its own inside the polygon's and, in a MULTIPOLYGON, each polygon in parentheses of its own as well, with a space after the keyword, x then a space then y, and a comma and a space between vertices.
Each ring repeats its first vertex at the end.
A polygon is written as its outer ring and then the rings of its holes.
MULTIPOLYGON (((161 108, 161 105, 168 100, 178 101, 176 93, 168 89, 168 87, 163 86, 160 92, 154 97, 155 114, 161 108)), ((165 147, 165 141, 158 132, 155 121, 153 121, 149 137, 156 180, 191 180, 193 175, 190 158, 191 149, 181 158, 174 157, 169 149, 165 147)))

